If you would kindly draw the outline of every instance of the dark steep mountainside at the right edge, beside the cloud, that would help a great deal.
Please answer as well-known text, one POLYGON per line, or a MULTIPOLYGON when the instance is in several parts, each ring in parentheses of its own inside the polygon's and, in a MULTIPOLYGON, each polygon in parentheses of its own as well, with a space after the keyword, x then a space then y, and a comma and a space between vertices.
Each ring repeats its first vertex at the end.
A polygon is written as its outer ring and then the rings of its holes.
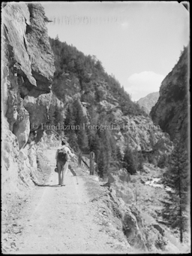
POLYGON ((151 109, 154 123, 169 133, 171 139, 183 138, 187 144, 188 134, 188 48, 185 47, 178 63, 160 86, 160 97, 151 109))

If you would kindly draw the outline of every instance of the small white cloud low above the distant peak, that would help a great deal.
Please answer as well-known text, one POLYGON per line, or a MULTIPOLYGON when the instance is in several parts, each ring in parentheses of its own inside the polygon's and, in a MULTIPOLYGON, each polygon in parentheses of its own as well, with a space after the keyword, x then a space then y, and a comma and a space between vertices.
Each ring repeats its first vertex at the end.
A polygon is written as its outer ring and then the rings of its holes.
POLYGON ((151 71, 144 71, 139 74, 134 73, 127 79, 128 84, 124 89, 127 90, 127 93, 136 101, 145 97, 148 93, 159 91, 163 79, 163 75, 151 71))

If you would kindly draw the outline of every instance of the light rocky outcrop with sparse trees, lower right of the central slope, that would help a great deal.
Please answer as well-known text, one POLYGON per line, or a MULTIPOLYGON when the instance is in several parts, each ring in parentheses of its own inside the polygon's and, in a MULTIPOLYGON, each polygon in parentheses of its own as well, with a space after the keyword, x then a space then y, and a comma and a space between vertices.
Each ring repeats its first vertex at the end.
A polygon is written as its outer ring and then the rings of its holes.
POLYGON ((106 101, 100 102, 98 109, 110 113, 111 128, 121 151, 128 144, 132 150, 152 154, 157 161, 161 155, 172 151, 169 134, 163 133, 160 126, 155 126, 150 117, 124 115, 117 103, 113 105, 106 101))

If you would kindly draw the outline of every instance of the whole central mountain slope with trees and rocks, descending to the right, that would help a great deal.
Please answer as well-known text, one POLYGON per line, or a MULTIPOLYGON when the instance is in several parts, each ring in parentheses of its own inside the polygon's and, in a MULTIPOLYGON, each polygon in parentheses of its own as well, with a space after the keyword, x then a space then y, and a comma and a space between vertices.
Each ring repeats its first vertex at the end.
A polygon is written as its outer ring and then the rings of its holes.
MULTIPOLYGON (((119 169, 118 149, 121 154, 127 147, 135 156, 151 154, 145 156, 146 161, 150 158, 158 162, 162 154, 169 154, 169 136, 154 126, 113 76, 104 72, 95 56, 85 56, 58 38, 49 41, 56 69, 52 91, 66 105, 65 118, 61 122, 52 118, 52 123, 80 127, 65 130, 65 136, 77 151, 95 152, 101 177, 119 169)), ((57 111, 55 115, 58 116, 57 111)))

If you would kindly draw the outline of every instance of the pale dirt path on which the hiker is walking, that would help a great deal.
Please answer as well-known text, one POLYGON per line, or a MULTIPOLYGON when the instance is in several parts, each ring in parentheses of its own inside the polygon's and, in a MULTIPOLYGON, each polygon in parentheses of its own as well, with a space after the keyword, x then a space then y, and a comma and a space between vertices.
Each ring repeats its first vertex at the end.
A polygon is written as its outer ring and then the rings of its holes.
MULTIPOLYGON (((52 170, 55 151, 47 151, 52 170)), ((37 187, 33 200, 20 216, 24 230, 17 237, 18 254, 115 253, 114 239, 101 231, 83 178, 68 172, 58 186, 52 171, 49 181, 37 187)))

